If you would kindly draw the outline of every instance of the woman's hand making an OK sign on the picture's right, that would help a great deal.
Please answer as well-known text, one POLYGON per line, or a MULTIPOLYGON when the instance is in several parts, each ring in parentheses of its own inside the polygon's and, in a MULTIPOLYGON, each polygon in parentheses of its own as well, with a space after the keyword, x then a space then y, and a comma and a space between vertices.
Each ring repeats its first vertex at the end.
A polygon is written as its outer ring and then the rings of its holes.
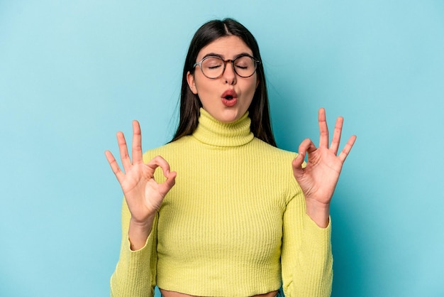
POLYGON ((319 121, 319 147, 310 139, 305 139, 299 146, 299 155, 294 158, 293 174, 301 186, 306 199, 307 214, 320 227, 328 225, 328 216, 331 198, 338 183, 340 171, 345 158, 355 144, 356 136, 348 139, 343 150, 338 154, 340 134, 343 129, 342 117, 338 117, 333 132, 331 146, 328 147, 328 126, 326 111, 321 108, 318 112, 319 121), (304 157, 309 153, 305 168, 302 168, 304 157))

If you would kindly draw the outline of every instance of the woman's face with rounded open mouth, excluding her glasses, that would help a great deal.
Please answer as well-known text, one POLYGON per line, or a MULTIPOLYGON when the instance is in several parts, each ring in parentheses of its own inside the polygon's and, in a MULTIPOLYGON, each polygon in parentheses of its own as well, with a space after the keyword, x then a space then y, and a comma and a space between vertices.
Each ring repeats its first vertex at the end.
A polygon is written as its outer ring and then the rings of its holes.
MULTIPOLYGON (((207 55, 218 55, 223 60, 234 60, 240 54, 252 56, 252 51, 238 36, 225 36, 216 39, 202 48, 196 62, 207 55)), ((199 96, 202 107, 212 117, 223 123, 240 119, 252 102, 259 81, 255 72, 250 77, 240 77, 234 72, 233 64, 226 63, 221 77, 206 77, 196 66, 194 75, 187 74, 187 81, 192 92, 199 96)))

